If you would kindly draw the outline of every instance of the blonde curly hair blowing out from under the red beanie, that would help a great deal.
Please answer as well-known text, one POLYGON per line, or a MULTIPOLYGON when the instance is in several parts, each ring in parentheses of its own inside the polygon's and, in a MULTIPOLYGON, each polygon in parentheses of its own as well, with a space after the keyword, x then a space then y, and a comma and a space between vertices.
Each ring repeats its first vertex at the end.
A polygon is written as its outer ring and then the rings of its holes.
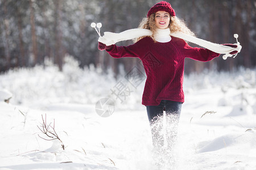
MULTIPOLYGON (((155 41, 155 33, 156 33, 156 29, 158 28, 156 27, 156 24, 155 24, 155 13, 151 14, 149 18, 143 18, 138 28, 150 29, 150 31, 152 31, 151 38, 155 41)), ((195 33, 193 33, 187 27, 184 20, 177 18, 177 16, 170 16, 170 24, 168 25, 168 28, 170 28, 171 33, 183 32, 183 33, 186 33, 187 35, 195 36, 195 33)), ((137 39, 134 39, 134 42, 137 42, 143 39, 144 37, 146 36, 138 37, 137 39)))

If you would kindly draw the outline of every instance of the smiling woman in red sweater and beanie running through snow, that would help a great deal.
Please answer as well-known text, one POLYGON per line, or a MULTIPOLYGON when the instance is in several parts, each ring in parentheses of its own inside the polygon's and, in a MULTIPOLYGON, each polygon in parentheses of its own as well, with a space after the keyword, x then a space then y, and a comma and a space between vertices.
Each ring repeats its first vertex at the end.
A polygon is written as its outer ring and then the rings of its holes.
MULTIPOLYGON (((170 152, 176 141, 177 124, 181 105, 184 103, 184 59, 187 57, 197 61, 210 61, 220 54, 209 49, 192 48, 183 39, 170 36, 170 33, 175 32, 192 36, 193 33, 175 16, 170 3, 165 1, 156 3, 150 8, 147 18, 142 20, 139 28, 143 28, 143 30, 138 29, 143 31, 139 35, 144 36, 137 37, 135 44, 117 46, 114 44, 115 38, 112 39, 115 35, 108 36, 105 33, 105 36, 98 40, 98 49, 106 50, 114 58, 138 57, 142 60, 147 75, 142 104, 147 108, 152 142, 156 152, 170 152), (166 112, 166 129, 163 129, 163 111, 166 112), (166 146, 164 135, 166 135, 167 147, 164 147, 166 146)), ((127 34, 122 40, 129 39, 126 36, 127 34)), ((134 36, 131 37, 136 36, 138 36, 137 32, 134 32, 134 36)), ((227 45, 237 47, 237 45, 227 45)), ((237 50, 230 53, 235 54, 237 50)))

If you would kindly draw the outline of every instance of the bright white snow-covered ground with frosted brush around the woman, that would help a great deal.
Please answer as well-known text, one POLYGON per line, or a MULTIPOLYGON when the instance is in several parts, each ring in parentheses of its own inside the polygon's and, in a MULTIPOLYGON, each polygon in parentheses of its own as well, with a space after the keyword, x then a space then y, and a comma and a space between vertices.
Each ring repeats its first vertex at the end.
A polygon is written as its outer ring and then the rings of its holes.
MULTIPOLYGON (((154 169, 144 82, 135 88, 125 73, 115 80, 66 59, 63 73, 48 63, 0 75, 0 90, 13 94, 0 101, 0 169, 154 169), (120 82, 123 101, 112 91, 120 82), (96 113, 102 97, 115 101, 109 117, 96 113), (42 116, 62 143, 45 140, 42 116)), ((185 76, 176 169, 256 169, 255 72, 185 76)))

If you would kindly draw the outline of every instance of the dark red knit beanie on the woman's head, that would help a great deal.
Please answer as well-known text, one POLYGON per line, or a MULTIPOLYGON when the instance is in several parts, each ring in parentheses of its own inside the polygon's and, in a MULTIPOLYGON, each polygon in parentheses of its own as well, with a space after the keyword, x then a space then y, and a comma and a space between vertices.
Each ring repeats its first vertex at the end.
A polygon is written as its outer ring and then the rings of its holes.
POLYGON ((149 18, 151 14, 157 11, 166 11, 171 16, 175 16, 174 9, 172 8, 171 4, 166 1, 161 1, 159 3, 156 3, 156 5, 152 6, 150 10, 147 12, 147 17, 149 18))

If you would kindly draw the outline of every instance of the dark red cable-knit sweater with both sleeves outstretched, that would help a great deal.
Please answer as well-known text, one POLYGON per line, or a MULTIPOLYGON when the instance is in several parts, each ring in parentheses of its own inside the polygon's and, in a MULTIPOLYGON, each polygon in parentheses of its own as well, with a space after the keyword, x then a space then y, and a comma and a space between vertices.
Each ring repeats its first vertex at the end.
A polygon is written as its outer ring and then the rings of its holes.
POLYGON ((172 37, 169 42, 154 42, 151 37, 144 37, 133 45, 112 45, 106 51, 114 58, 141 59, 147 75, 143 105, 159 105, 161 100, 183 103, 184 59, 188 57, 197 61, 210 61, 220 56, 208 49, 192 48, 176 37, 172 37))

